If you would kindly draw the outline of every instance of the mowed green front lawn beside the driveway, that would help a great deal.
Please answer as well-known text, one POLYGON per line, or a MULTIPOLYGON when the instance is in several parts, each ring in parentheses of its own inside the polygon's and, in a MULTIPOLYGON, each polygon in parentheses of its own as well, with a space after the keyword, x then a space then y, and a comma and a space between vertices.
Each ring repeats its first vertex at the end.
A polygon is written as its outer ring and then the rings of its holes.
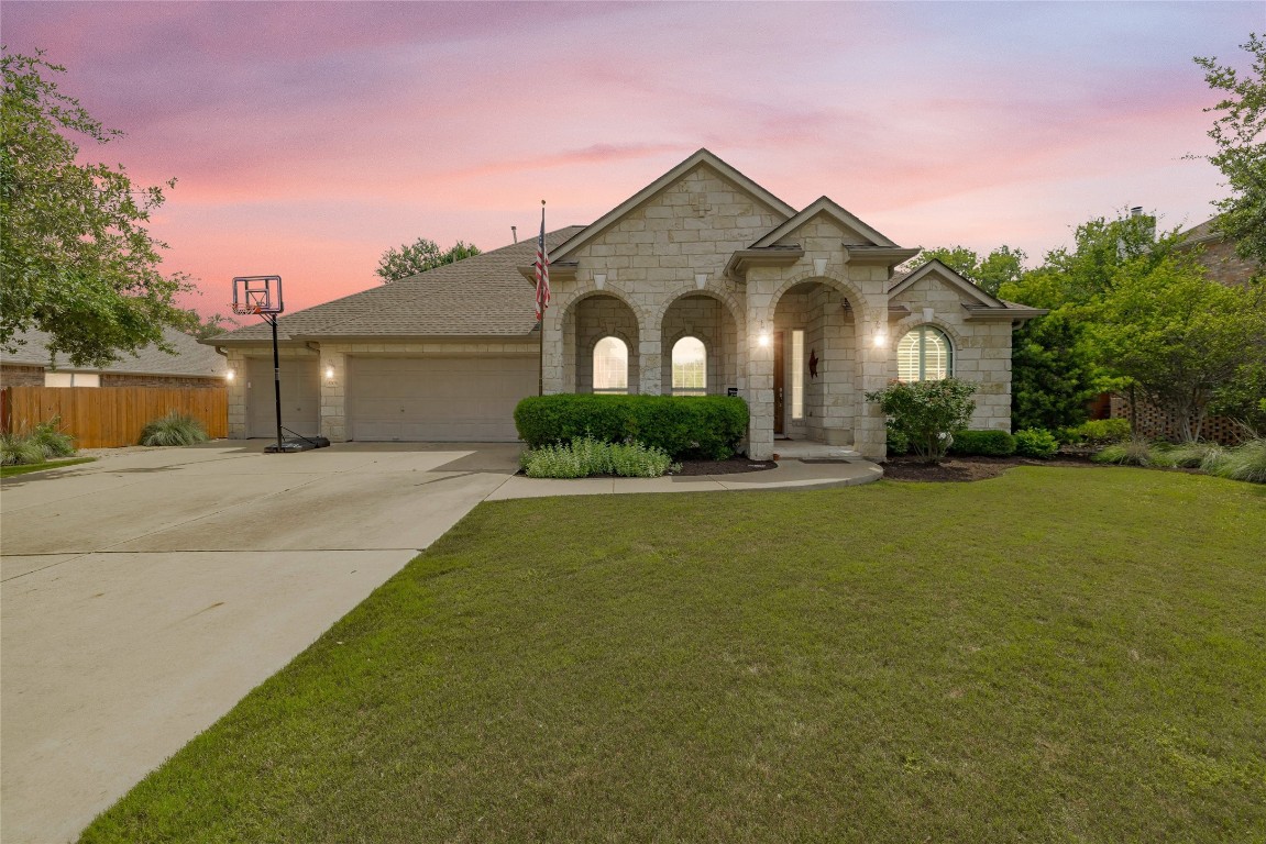
POLYGON ((85 841, 1260 841, 1266 488, 482 505, 85 841))

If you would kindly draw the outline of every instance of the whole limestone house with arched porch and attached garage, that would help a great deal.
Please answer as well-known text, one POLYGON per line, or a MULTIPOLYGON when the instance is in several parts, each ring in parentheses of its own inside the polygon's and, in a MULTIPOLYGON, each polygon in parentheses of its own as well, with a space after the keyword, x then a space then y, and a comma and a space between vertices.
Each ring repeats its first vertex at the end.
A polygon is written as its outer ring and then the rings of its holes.
MULTIPOLYGON (((893 378, 979 385, 974 428, 1010 429, 1012 330, 1044 311, 994 299, 827 197, 796 211, 700 149, 587 227, 547 235, 553 301, 533 314, 534 240, 280 319, 282 419, 332 440, 514 440, 536 395, 738 395, 748 452, 775 438, 881 458, 863 392, 893 378)), ((273 430, 265 324, 204 340, 241 377, 229 435, 273 430)))

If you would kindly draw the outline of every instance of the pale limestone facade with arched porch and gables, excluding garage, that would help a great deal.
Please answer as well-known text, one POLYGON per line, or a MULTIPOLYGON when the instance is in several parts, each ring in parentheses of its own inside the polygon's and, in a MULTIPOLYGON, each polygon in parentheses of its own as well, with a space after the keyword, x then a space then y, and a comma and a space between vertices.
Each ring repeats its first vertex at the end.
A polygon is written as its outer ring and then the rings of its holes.
POLYGON ((846 214, 823 210, 796 220, 708 163, 689 170, 565 249, 575 271, 558 273, 552 285, 544 391, 592 390, 594 345, 614 335, 629 347, 629 391, 668 395, 672 345, 698 337, 708 351, 709 392, 734 388, 747 400, 752 457, 774 453, 779 426, 796 439, 852 444, 882 458, 885 420, 862 396, 896 377, 900 337, 931 323, 950 338, 953 375, 979 383, 972 425, 1009 430, 1013 320, 1005 306, 995 301, 993 319, 974 315, 970 309, 980 310, 981 301, 963 292, 961 280, 956 286, 948 270, 890 300, 894 264, 913 251, 898 256, 899 248, 875 243, 875 233, 846 214), (752 244, 784 224, 793 228, 771 244, 770 261, 728 263, 741 251, 756 252, 752 244), (796 377, 787 347, 793 332, 804 332, 800 364, 812 356, 818 371, 804 376, 799 416, 789 395, 796 377), (786 349, 781 356, 775 337, 786 349), (782 425, 776 406, 784 409, 782 425))

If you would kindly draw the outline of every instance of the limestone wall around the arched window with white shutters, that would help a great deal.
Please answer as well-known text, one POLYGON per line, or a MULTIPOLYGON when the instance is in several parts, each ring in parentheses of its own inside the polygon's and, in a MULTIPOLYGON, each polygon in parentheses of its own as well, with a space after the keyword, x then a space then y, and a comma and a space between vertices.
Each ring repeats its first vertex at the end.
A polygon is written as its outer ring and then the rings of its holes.
POLYGON ((929 273, 893 297, 910 314, 891 325, 890 353, 896 377, 896 344, 912 329, 933 325, 950 338, 951 373, 976 382, 974 429, 1012 429, 1012 320, 967 319, 963 296, 929 273))

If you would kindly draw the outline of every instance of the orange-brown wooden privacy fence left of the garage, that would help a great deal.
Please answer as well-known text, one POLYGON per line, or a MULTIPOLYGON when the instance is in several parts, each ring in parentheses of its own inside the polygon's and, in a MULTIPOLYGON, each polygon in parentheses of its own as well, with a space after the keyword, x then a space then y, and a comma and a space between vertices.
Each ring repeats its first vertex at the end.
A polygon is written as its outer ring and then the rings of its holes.
POLYGON ((115 448, 135 445, 146 424, 172 410, 201 421, 213 438, 228 437, 223 387, 5 387, 0 425, 23 433, 61 416, 77 448, 115 448))

